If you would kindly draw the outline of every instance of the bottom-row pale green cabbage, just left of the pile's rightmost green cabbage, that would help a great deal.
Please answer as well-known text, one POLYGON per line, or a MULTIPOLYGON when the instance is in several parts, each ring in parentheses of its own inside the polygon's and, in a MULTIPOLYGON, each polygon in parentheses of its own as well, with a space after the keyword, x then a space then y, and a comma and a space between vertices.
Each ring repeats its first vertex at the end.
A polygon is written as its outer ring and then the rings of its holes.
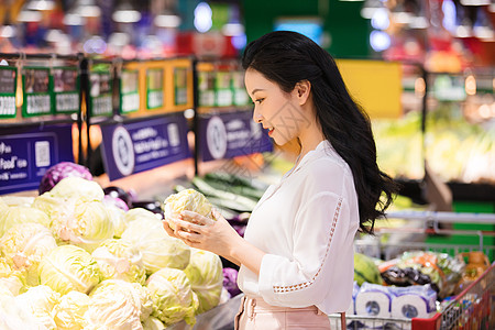
POLYGON ((160 270, 150 276, 146 287, 153 299, 152 316, 165 326, 168 327, 183 319, 190 326, 196 323, 197 305, 186 273, 175 268, 160 270))

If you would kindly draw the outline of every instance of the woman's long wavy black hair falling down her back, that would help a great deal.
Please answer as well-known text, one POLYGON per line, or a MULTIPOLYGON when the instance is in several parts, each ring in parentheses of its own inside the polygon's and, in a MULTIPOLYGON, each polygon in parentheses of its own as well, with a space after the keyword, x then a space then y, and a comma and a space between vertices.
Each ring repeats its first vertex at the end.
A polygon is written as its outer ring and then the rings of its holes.
POLYGON ((286 92, 299 81, 311 84, 322 132, 354 176, 360 228, 373 233, 375 219, 384 216, 398 188, 380 170, 370 119, 350 96, 332 56, 299 33, 276 31, 246 46, 242 66, 255 69, 286 92), (383 193, 385 198, 381 198, 383 193))

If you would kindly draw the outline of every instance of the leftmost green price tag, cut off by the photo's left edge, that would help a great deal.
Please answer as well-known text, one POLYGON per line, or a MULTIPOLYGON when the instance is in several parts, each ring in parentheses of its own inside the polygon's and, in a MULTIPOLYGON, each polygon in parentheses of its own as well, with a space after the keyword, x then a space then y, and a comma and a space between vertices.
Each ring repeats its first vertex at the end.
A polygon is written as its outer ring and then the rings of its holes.
POLYGON ((0 119, 15 118, 16 73, 15 67, 0 66, 0 119))

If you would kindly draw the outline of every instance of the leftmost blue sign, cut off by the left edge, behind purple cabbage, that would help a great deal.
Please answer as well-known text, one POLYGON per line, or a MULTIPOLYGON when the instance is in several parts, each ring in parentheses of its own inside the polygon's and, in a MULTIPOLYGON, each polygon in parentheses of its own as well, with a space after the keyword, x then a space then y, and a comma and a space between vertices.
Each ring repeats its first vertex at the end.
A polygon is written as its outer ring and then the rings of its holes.
POLYGON ((37 189, 46 169, 73 161, 70 123, 2 129, 0 195, 37 189))

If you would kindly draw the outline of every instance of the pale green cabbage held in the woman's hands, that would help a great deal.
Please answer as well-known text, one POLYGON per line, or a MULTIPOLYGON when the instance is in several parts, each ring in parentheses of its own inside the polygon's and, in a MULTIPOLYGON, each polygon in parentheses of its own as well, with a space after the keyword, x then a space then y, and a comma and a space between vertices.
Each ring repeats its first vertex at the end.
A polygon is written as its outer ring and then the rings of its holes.
MULTIPOLYGON (((165 219, 169 221, 172 218, 178 217, 182 211, 194 211, 201 216, 212 219, 211 204, 199 191, 195 189, 184 189, 177 194, 168 196, 162 205, 165 213, 165 219)), ((174 229, 175 224, 168 222, 168 226, 174 229)))

